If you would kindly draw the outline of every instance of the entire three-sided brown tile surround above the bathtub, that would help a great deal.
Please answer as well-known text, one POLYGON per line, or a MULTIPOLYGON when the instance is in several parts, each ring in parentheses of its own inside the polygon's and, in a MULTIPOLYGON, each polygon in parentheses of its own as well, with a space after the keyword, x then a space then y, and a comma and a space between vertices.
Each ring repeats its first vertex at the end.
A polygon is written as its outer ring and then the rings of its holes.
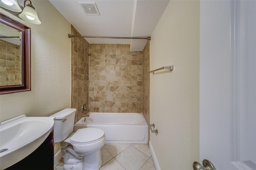
MULTIPOLYGON (((71 26, 71 34, 80 33, 71 26)), ((128 44, 89 44, 71 38, 71 107, 90 112, 139 112, 149 123, 149 41, 143 51, 128 44), (90 51, 88 56, 83 50, 90 51)))

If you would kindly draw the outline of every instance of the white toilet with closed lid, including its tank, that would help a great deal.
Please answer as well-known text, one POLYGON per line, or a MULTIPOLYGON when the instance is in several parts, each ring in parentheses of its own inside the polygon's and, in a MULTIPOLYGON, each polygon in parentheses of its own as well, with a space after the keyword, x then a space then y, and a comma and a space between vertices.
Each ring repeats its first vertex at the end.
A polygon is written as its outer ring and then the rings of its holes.
POLYGON ((73 132, 76 109, 64 109, 50 117, 54 121, 54 143, 61 142, 64 170, 99 170, 100 148, 105 144, 104 131, 81 128, 73 132))

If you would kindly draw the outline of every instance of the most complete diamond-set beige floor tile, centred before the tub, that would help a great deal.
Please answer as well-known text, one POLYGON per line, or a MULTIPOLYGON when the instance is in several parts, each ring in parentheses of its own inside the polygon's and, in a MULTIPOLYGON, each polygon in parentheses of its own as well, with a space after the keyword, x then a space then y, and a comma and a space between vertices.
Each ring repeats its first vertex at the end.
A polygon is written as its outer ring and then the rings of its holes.
POLYGON ((123 152, 118 154, 115 159, 126 169, 126 170, 139 170, 142 165, 149 159, 148 156, 134 148, 129 146, 123 152))

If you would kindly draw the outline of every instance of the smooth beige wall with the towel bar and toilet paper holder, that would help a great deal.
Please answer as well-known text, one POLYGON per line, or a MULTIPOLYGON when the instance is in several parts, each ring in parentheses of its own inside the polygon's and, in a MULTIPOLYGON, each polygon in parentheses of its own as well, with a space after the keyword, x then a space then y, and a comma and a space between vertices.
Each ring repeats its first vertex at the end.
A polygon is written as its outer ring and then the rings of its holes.
POLYGON ((199 1, 170 1, 150 41, 150 142, 161 170, 199 161, 199 1))

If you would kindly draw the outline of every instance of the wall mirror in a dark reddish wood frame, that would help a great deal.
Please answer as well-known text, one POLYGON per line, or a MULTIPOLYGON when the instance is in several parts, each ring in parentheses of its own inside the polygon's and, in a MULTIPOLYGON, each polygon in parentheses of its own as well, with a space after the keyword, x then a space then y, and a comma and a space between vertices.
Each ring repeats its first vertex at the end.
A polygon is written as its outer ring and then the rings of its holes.
POLYGON ((30 28, 0 13, 0 94, 31 91, 30 28))

